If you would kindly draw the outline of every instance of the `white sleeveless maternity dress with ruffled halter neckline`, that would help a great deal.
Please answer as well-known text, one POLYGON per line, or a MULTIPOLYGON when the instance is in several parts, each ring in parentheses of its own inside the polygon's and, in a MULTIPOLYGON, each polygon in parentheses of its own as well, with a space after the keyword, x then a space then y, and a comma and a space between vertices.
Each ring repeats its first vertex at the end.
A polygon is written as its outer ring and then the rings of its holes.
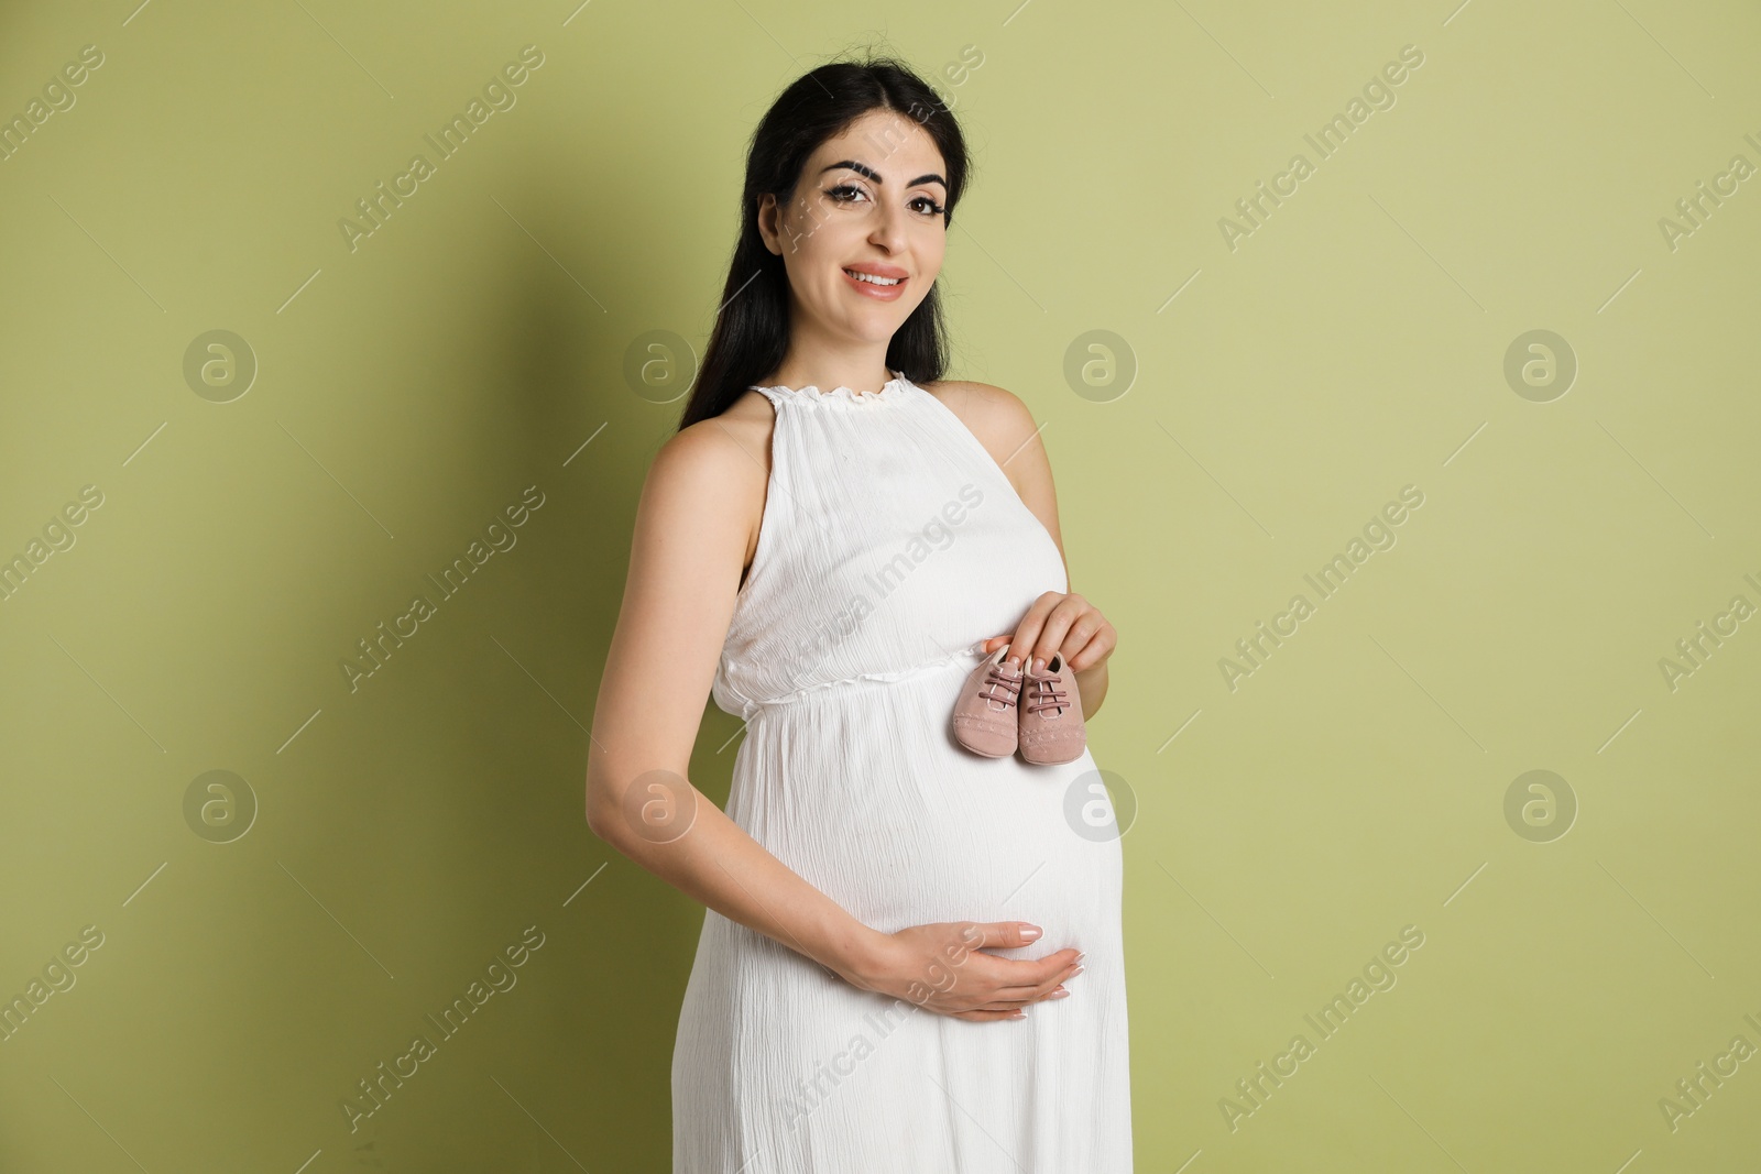
POLYGON ((713 685, 747 720, 727 815, 873 929, 1028 921, 1039 942, 993 952, 1087 958, 1069 998, 974 1023, 859 991, 706 910, 673 1049, 673 1170, 1127 1174, 1120 843, 1094 757, 984 759, 949 722, 977 644, 1069 590, 1058 547, 902 373, 880 393, 755 391, 777 424, 713 685), (1097 796, 1115 834, 1094 834, 1097 796))

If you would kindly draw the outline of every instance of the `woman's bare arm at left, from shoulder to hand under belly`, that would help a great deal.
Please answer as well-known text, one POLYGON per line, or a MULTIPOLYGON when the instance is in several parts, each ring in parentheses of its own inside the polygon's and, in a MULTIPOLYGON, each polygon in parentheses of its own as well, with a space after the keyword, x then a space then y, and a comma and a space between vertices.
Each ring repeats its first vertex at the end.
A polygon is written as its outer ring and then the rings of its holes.
MULTIPOLYGON (((685 778, 704 699, 733 620, 747 539, 763 510, 764 470, 720 421, 669 438, 643 482, 629 577, 593 706, 586 822, 593 834, 724 917, 821 963, 852 986, 944 1014, 1006 1017, 1072 970, 1074 950, 1035 961, 954 961, 953 933, 880 933, 771 855, 685 778), (630 794, 632 783, 639 790, 630 794), (659 783, 659 790, 650 787, 659 783), (652 825, 645 804, 673 818, 652 825), (1011 1005, 1002 1007, 1000 993, 1011 1005), (983 1014, 981 1014, 983 1012, 983 1014)), ((829 785, 829 780, 828 780, 829 785)), ((970 926, 970 922, 969 922, 970 926)), ((1025 922, 979 926, 967 949, 1027 945, 1025 922)), ((979 958, 979 956, 974 956, 979 958)))

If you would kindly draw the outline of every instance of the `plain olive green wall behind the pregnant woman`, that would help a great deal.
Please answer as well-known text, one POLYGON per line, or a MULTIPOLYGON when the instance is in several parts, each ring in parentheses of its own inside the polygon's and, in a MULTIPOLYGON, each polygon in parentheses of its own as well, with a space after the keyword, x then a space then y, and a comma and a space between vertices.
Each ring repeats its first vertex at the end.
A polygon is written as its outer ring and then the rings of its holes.
MULTIPOLYGON (((1090 745, 1136 804, 1138 1169, 1752 1169, 1761 178, 1673 248, 1659 222, 1761 165, 1754 5, 14 4, 0 114, 88 44, 0 162, 0 556, 102 493, 0 602, 0 996, 102 945, 0 1044, 0 1169, 669 1169, 701 906, 588 833, 586 727, 747 136, 863 46, 970 136, 953 375, 1044 422, 1072 588, 1120 634, 1090 745), (185 377, 218 329, 245 394, 185 377), (1569 385, 1507 378, 1513 345, 1569 385), (518 544, 350 690, 528 486, 518 544), (1701 621, 1728 635, 1671 688, 1701 621), (208 771, 255 804, 225 843, 195 831, 224 806, 185 815, 208 771), (1729 1075, 1671 1128, 1701 1061, 1729 1075)), ((706 699, 717 801, 738 729, 706 699)))

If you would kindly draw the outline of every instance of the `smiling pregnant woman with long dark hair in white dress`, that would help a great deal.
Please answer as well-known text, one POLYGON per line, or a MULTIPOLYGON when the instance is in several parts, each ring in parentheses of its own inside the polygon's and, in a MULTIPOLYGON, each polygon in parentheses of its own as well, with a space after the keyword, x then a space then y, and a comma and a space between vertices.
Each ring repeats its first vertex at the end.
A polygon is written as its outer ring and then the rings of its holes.
POLYGON ((752 137, 703 371, 643 484, 586 817, 708 906, 674 1174, 1131 1170, 1094 757, 974 753, 951 720, 991 672, 993 718, 1092 716, 1116 639, 1069 593, 1032 415, 942 380, 965 178, 953 114, 903 65, 794 81, 752 137), (726 813, 685 778, 706 693, 745 720, 726 813))

